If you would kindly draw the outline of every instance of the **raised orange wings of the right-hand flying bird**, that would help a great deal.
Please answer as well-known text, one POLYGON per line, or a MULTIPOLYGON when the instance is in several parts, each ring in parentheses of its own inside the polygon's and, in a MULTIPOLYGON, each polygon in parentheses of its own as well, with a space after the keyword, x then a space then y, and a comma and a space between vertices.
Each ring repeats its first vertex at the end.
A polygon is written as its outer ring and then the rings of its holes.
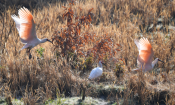
POLYGON ((154 53, 148 39, 141 38, 139 41, 134 40, 134 42, 139 50, 139 56, 138 56, 139 63, 142 63, 142 65, 143 63, 151 64, 154 53))

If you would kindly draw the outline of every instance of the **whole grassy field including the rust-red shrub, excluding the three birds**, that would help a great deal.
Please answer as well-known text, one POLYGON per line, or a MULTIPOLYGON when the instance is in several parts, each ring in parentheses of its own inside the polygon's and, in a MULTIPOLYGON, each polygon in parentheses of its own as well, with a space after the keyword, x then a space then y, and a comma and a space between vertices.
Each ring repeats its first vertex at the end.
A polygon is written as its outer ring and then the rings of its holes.
MULTIPOLYGON (((53 41, 36 46, 28 59, 11 18, 22 6, 0 13, 0 96, 25 104, 46 104, 60 97, 100 98, 124 105, 175 104, 175 1, 76 0, 39 2, 28 8, 38 38, 53 41), (40 4, 39 4, 40 3, 40 4), (134 39, 150 41, 158 63, 145 74, 133 74, 138 49, 134 39), (66 39, 67 38, 67 39, 66 39), (99 82, 87 80, 103 60, 99 82), (99 87, 98 87, 99 86, 99 87), (101 87, 122 86, 121 92, 101 87)), ((86 98, 85 98, 86 100, 86 98)), ((60 100, 59 100, 60 101, 60 100)))

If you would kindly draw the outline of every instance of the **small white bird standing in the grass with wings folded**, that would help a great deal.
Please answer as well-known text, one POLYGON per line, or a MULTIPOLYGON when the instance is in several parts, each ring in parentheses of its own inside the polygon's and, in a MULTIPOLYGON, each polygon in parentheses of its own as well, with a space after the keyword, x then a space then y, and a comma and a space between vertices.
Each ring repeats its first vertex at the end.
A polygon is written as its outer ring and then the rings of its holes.
POLYGON ((98 63, 99 67, 96 67, 91 71, 88 79, 95 79, 95 78, 102 75, 102 73, 103 73, 103 65, 102 64, 104 64, 104 63, 102 61, 99 61, 99 63, 98 63))

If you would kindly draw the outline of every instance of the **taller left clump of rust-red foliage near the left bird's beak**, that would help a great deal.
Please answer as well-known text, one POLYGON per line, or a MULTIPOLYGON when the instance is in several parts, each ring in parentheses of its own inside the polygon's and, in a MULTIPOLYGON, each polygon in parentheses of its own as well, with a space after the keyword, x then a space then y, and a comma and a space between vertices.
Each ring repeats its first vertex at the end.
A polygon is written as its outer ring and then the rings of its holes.
POLYGON ((87 44, 89 40, 92 40, 89 33, 84 33, 80 36, 81 27, 89 26, 91 23, 91 11, 90 9, 87 16, 82 16, 81 18, 76 17, 75 22, 73 22, 74 12, 72 10, 72 5, 74 2, 70 3, 69 8, 65 8, 65 13, 62 15, 63 18, 67 19, 66 28, 62 29, 61 32, 55 31, 52 36, 52 42, 54 42, 55 49, 61 48, 61 54, 65 56, 68 52, 77 53, 77 55, 84 55, 82 53, 82 47, 87 44))

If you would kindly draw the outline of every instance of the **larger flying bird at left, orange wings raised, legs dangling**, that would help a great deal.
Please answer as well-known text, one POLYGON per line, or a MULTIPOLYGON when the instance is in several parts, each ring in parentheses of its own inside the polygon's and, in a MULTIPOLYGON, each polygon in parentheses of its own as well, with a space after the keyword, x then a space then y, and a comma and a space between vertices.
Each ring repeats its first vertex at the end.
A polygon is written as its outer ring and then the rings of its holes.
MULTIPOLYGON (((51 42, 49 39, 39 39, 36 35, 36 30, 35 30, 35 22, 33 19, 33 16, 31 12, 23 7, 18 10, 18 15, 17 17, 15 14, 11 15, 12 19, 16 23, 16 28, 19 32, 19 36, 21 39, 21 42, 25 44, 20 50, 27 49, 26 53, 29 54, 29 59, 31 59, 32 55, 30 53, 30 50, 37 46, 40 43, 44 42, 51 42)), ((52 43, 52 42, 51 42, 52 43)))

